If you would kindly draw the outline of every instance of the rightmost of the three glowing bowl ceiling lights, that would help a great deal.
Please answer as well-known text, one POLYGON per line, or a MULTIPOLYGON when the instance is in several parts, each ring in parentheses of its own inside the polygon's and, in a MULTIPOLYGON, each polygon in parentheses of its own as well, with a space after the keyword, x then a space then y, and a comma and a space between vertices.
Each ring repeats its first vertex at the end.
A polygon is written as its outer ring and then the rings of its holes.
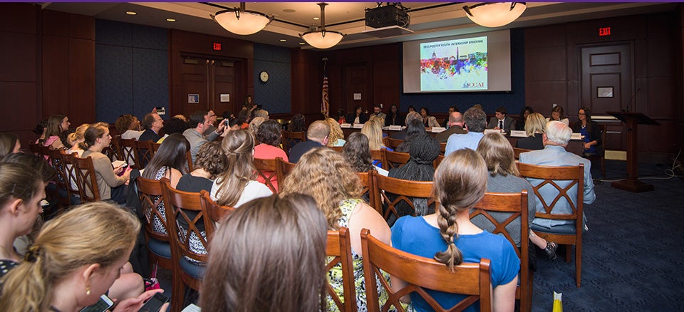
POLYGON ((484 27, 500 27, 510 24, 527 9, 525 2, 483 2, 463 6, 465 15, 475 24, 484 27))

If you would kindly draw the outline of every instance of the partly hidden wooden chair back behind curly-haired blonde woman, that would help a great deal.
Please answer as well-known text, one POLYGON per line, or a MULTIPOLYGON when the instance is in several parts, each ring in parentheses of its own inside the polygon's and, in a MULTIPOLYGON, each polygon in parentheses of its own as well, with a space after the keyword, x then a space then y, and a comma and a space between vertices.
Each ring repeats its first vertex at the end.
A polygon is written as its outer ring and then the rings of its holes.
POLYGON ((335 268, 336 272, 341 272, 341 276, 328 274, 328 283, 326 284, 328 296, 333 299, 339 311, 356 312, 356 284, 354 281, 354 265, 353 256, 351 255, 349 229, 341 227, 339 231, 328 231, 326 256, 328 256, 329 260, 326 264, 326 271, 329 272, 335 268), (333 286, 331 286, 331 276, 335 276, 335 279, 342 279, 342 298, 338 296, 333 286))

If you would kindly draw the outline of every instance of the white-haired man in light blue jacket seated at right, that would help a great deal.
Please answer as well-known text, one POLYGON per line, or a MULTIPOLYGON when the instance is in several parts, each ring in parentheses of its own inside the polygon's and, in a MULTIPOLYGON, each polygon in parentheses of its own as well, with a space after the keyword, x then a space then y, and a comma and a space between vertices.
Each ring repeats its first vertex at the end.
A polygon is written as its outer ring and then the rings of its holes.
MULTIPOLYGON (((541 135, 541 142, 544 143, 544 150, 523 152, 520 154, 519 161, 524 164, 554 167, 584 164, 584 204, 591 204, 596 200, 594 180, 591 179, 591 162, 565 150, 571 135, 572 130, 568 125, 556 120, 549 121, 549 123, 546 123, 546 132, 541 135)), ((541 183, 541 180, 539 179, 528 179, 528 181, 533 186, 537 186, 541 183)), ((556 181, 556 184, 559 184, 560 187, 566 187, 569 184, 569 181, 556 181)), ((539 189, 540 199, 543 199, 547 203, 552 202, 556 197, 556 194, 558 194, 558 191, 552 185, 544 185, 544 187, 539 189)), ((577 187, 571 187, 568 191, 568 196, 571 199, 576 199, 577 187)), ((542 211, 544 211, 544 206, 541 204, 540 200, 537 201, 537 212, 542 211)), ((554 209, 551 212, 554 214, 570 214, 572 213, 572 208, 565 197, 561 197, 561 199, 554 204, 554 209)), ((535 218, 534 222, 530 225, 544 227, 548 230, 551 227, 563 224, 574 224, 574 220, 535 218)))

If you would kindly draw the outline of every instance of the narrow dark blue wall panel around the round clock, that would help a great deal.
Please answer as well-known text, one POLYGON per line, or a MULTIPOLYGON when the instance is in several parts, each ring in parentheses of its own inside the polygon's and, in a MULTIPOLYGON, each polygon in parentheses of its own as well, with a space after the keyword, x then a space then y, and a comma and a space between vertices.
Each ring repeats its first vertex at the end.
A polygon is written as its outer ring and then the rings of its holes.
POLYGON ((269 114, 291 113, 291 80, 290 49, 254 43, 254 103, 269 114), (259 80, 261 71, 269 73, 268 82, 259 80))

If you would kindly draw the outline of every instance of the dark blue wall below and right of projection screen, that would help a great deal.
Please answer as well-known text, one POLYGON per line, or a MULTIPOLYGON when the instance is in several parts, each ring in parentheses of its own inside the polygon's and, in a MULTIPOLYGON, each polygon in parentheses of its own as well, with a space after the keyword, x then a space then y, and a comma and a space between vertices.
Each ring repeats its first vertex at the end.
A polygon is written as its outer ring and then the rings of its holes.
MULTIPOLYGON (((406 112, 408 105, 415 110, 425 106, 430 113, 445 113, 449 106, 455 105, 460 112, 465 112, 472 105, 480 104, 484 112, 494 114, 499 106, 504 106, 507 113, 517 115, 525 103, 525 51, 524 30, 511 29, 511 92, 499 93, 402 93, 400 95, 400 111, 406 112)), ((400 82, 403 85, 403 80, 400 82)))

